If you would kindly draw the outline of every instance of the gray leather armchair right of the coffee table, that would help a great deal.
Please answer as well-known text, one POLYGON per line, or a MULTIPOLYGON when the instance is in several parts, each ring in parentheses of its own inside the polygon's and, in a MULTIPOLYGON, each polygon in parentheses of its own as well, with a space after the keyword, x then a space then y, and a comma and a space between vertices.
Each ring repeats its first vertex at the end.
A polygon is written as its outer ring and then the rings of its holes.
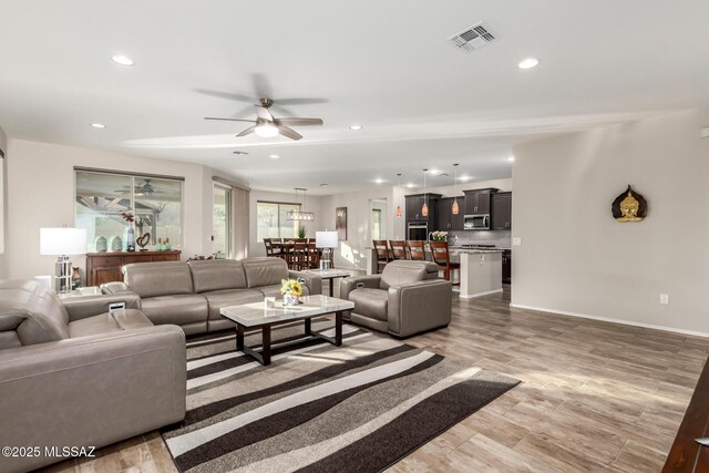
POLYGON ((346 278, 340 298, 354 302, 346 320, 395 337, 410 337, 451 322, 452 286, 438 265, 397 260, 381 275, 346 278))

